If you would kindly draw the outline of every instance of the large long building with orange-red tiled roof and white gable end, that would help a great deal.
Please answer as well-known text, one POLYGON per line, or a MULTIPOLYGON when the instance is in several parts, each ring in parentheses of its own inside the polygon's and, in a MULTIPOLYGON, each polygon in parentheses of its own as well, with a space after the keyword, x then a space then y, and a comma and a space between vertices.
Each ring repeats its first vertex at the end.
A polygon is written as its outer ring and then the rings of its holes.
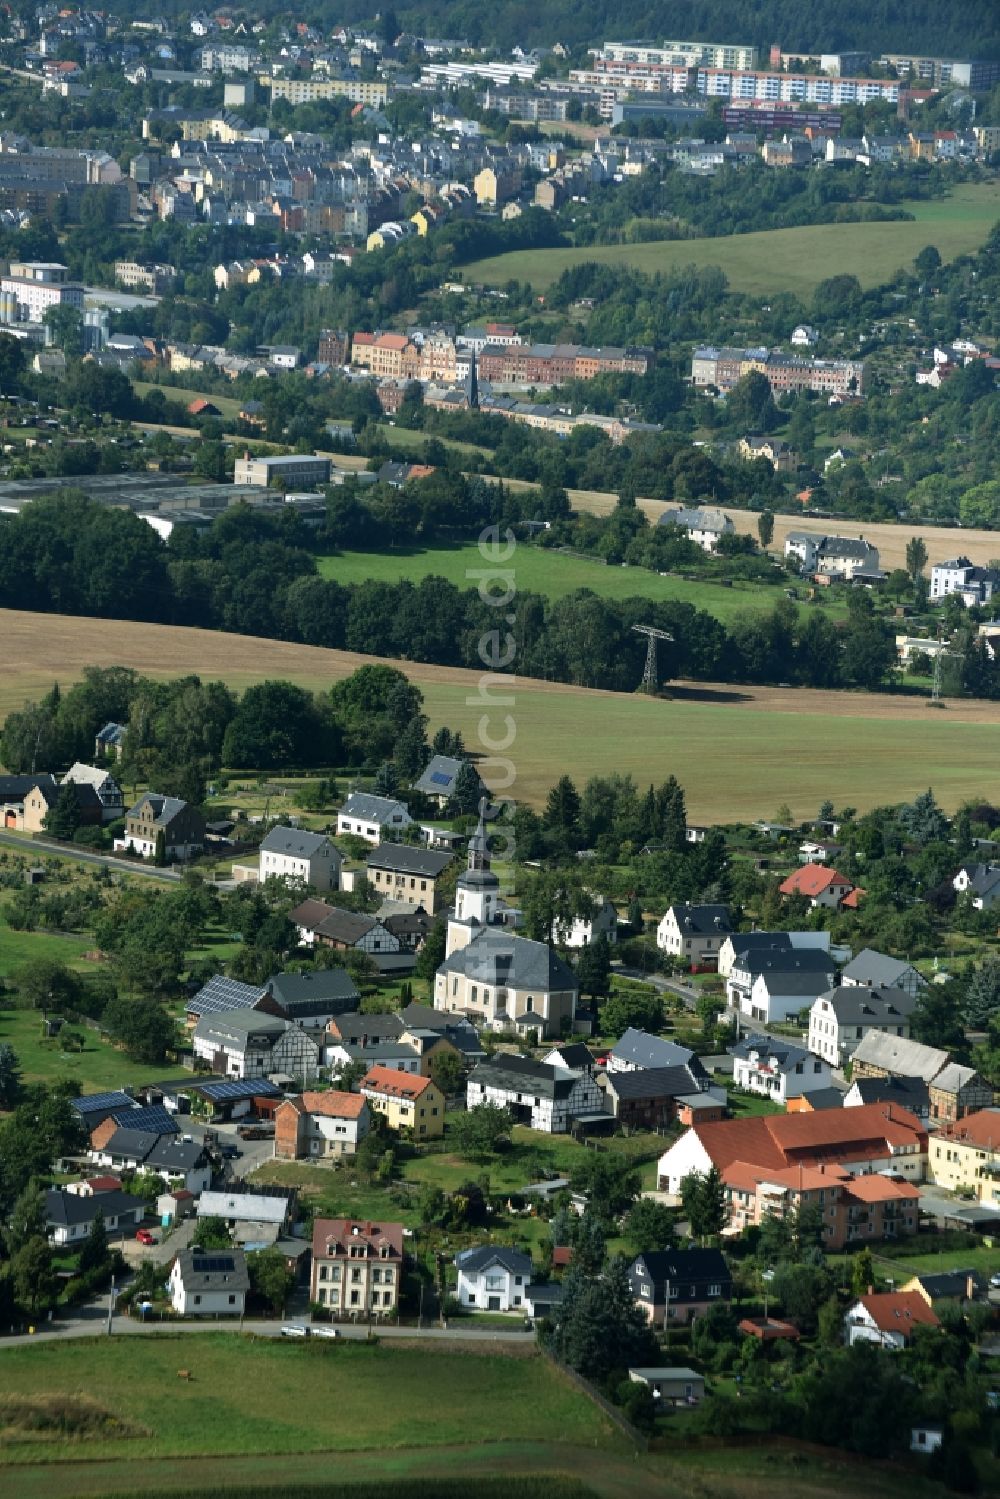
POLYGON ((660 1157, 660 1190, 679 1195, 691 1172, 726 1171, 736 1162, 765 1171, 838 1165, 852 1174, 891 1171, 922 1181, 927 1130, 889 1103, 694 1124, 660 1157))

